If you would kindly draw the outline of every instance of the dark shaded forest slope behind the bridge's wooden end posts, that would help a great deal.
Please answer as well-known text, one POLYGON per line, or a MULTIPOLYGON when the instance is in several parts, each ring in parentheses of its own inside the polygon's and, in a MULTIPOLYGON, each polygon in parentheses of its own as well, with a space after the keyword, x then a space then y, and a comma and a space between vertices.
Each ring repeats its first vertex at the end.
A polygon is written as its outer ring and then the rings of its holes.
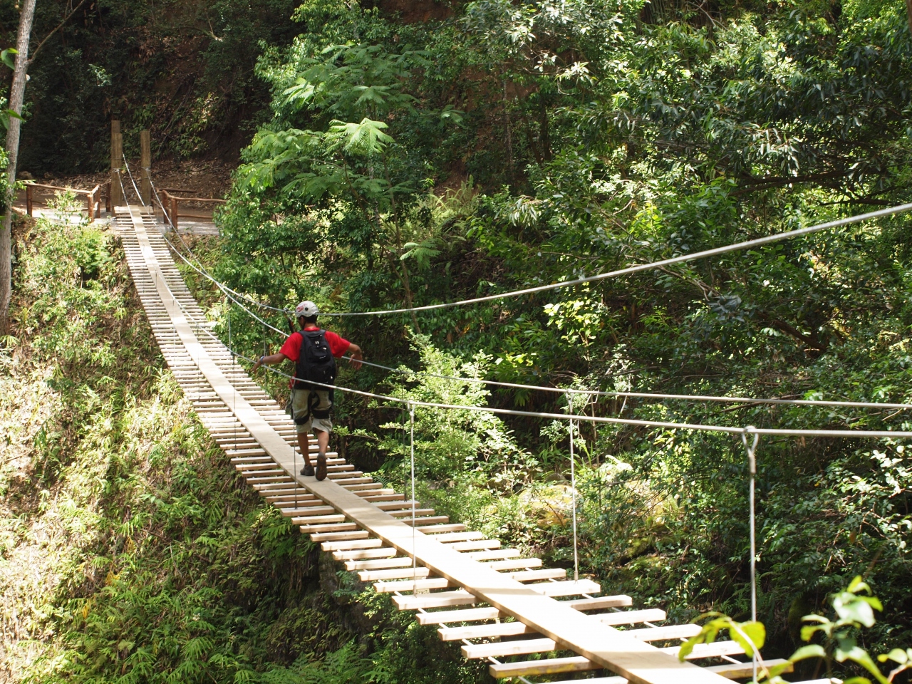
MULTIPOLYGON (((236 159, 268 102, 254 74, 256 58, 266 45, 291 41, 295 5, 98 0, 79 6, 29 67, 19 168, 36 177, 108 168, 110 119, 120 119, 130 158, 139 156, 139 131, 148 128, 157 160, 236 159)), ((37 5, 35 43, 71 8, 37 5)), ((15 44, 17 17, 16 3, 0 3, 7 45, 15 44)))

